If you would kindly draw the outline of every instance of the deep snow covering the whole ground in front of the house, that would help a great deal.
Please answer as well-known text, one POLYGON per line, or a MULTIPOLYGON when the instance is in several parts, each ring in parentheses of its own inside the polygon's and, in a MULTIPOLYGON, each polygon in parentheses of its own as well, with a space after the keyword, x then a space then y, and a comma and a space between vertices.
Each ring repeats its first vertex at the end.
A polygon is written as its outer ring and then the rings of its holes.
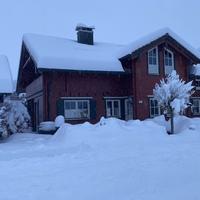
POLYGON ((0 144, 2 200, 198 200, 200 119, 64 124, 0 144))

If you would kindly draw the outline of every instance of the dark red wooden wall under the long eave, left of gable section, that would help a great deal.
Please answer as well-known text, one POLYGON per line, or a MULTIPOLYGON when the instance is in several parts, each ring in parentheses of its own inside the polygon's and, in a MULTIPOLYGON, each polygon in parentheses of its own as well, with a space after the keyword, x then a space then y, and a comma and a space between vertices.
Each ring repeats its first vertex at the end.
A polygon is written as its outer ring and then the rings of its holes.
MULTIPOLYGON (((93 97, 96 100, 96 120, 105 116, 105 96, 132 95, 131 75, 45 72, 44 116, 45 120, 54 120, 57 115, 56 103, 60 97, 93 97), (49 99, 49 105, 48 105, 49 99)), ((81 121, 70 121, 80 123, 81 121)))

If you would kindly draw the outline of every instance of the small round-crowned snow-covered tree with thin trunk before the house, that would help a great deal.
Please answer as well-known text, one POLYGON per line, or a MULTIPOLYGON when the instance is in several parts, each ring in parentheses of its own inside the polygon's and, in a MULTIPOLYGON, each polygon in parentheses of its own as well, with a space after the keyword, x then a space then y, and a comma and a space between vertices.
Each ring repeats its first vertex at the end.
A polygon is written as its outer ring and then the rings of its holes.
POLYGON ((180 79, 175 70, 155 85, 154 99, 158 101, 165 116, 169 116, 171 120, 171 134, 174 133, 174 114, 183 113, 190 105, 193 88, 192 82, 186 83, 180 79))

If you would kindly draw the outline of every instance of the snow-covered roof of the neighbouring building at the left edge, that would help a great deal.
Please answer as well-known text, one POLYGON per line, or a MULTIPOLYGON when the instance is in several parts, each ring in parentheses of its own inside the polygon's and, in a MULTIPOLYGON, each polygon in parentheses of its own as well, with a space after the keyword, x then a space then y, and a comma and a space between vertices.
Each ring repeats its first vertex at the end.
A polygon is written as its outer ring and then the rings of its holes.
POLYGON ((13 92, 13 79, 8 59, 0 55, 0 93, 13 92))

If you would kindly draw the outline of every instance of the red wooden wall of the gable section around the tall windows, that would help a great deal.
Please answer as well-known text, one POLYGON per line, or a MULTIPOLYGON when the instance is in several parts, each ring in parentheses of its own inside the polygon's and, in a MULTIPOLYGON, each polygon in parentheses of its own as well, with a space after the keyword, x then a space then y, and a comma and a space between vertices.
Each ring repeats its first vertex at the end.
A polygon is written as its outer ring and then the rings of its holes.
MULTIPOLYGON (((159 54, 159 75, 148 74, 148 57, 147 52, 149 49, 141 52, 140 56, 132 60, 133 78, 132 84, 135 90, 135 117, 138 119, 145 119, 150 116, 149 114, 149 95, 153 95, 153 88, 156 83, 159 83, 164 74, 164 45, 158 46, 159 54)), ((187 68, 189 67, 188 59, 181 53, 176 51, 172 46, 167 47, 174 53, 175 69, 180 77, 187 80, 187 68)))

